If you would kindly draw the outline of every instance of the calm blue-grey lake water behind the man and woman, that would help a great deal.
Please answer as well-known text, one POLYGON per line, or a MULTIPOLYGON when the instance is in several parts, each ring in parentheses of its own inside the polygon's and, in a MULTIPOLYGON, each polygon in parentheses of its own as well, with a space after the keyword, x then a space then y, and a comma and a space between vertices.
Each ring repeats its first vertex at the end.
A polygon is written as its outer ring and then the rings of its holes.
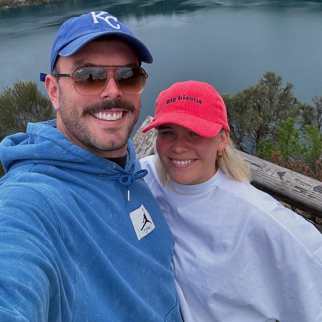
POLYGON ((159 92, 195 79, 234 94, 274 71, 309 102, 322 96, 322 1, 69 0, 0 11, 0 91, 50 71, 55 33, 66 19, 102 10, 128 25, 150 49, 141 122, 159 92), (108 2, 108 4, 107 4, 108 2))

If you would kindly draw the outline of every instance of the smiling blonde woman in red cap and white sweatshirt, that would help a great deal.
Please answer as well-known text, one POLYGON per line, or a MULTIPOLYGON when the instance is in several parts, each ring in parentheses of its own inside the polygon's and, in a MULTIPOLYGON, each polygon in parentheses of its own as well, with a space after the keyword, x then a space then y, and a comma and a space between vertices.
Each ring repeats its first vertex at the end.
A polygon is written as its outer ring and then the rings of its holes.
POLYGON ((158 156, 141 160, 175 238, 185 322, 321 322, 322 234, 250 185, 226 108, 207 83, 161 92, 158 156))

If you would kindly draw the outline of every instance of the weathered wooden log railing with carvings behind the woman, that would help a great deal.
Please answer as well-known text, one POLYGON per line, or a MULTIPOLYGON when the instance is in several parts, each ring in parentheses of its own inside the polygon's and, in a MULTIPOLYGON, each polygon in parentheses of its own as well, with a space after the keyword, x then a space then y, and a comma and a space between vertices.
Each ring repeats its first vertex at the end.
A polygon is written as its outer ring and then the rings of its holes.
MULTIPOLYGON (((154 129, 147 133, 142 130, 152 122, 148 116, 133 136, 133 143, 139 159, 154 154, 154 141, 157 133, 154 129)), ((274 163, 240 152, 248 162, 252 184, 306 213, 322 218, 322 182, 283 168, 274 163)))

